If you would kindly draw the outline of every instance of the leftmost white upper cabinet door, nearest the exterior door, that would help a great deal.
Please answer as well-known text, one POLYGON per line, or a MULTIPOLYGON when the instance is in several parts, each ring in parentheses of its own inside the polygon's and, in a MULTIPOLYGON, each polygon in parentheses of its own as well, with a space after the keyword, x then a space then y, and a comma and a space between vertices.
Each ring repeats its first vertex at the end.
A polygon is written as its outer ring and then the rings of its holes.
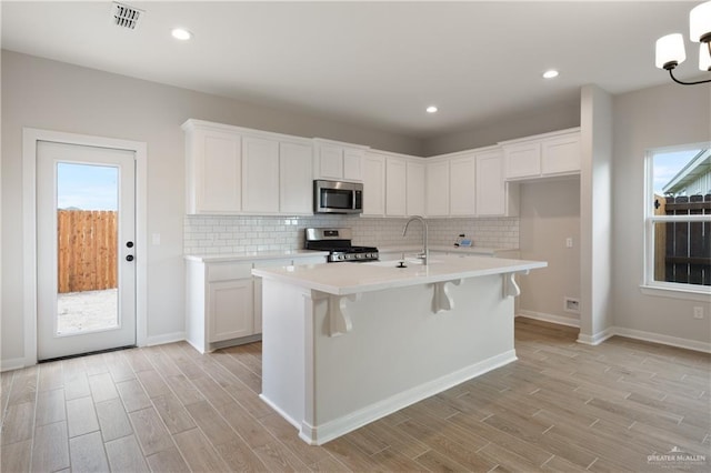
POLYGON ((188 184, 196 193, 191 213, 236 213, 242 208, 241 137, 211 130, 194 130, 189 160, 194 160, 189 169, 196 181, 188 184))

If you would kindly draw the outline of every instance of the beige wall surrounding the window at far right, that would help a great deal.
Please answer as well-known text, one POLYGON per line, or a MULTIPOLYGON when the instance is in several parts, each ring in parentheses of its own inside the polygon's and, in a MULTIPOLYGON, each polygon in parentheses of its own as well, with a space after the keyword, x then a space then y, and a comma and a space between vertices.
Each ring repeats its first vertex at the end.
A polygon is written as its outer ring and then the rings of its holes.
MULTIPOLYGON (((649 149, 711 141, 711 87, 665 85, 614 98, 613 285, 617 326, 711 343, 711 301, 644 295, 643 185, 649 149), (694 305, 705 318, 692 319, 694 305)), ((674 340, 671 340, 672 342, 674 340)))

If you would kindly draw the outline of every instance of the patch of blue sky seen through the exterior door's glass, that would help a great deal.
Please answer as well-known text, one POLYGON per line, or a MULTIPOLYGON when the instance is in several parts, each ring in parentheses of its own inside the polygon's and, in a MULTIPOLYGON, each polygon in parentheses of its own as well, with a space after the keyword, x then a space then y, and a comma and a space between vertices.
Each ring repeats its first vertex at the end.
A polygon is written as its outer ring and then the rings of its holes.
POLYGON ((57 164, 59 209, 118 210, 119 169, 110 165, 57 164))

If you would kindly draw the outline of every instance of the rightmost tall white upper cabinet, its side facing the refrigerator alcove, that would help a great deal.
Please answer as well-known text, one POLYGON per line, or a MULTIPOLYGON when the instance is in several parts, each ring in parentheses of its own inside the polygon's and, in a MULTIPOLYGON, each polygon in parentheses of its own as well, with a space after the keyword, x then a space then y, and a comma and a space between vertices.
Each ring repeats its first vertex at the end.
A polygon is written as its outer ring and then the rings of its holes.
POLYGON ((481 151, 475 160, 477 217, 517 217, 519 184, 503 179, 503 151, 481 151))

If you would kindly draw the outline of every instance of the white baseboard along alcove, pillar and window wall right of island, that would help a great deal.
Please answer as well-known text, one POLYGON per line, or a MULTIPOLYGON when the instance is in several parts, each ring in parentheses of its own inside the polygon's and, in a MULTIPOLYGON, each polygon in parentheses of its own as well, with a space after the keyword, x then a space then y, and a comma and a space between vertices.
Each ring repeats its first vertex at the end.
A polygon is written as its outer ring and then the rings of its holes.
MULTIPOLYGON (((560 315, 545 314, 541 312, 519 310, 517 316, 540 320, 559 325, 580 326, 580 321, 571 320, 560 315)), ((611 336, 627 336, 628 339, 642 340, 645 342, 659 343, 662 345, 678 346, 680 349, 693 350, 697 352, 711 353, 711 343, 699 342, 697 340, 680 339, 678 336, 663 335, 660 333, 645 332, 643 330, 628 329, 624 326, 610 326, 593 335, 579 334, 578 342, 585 345, 599 345, 611 336)))

